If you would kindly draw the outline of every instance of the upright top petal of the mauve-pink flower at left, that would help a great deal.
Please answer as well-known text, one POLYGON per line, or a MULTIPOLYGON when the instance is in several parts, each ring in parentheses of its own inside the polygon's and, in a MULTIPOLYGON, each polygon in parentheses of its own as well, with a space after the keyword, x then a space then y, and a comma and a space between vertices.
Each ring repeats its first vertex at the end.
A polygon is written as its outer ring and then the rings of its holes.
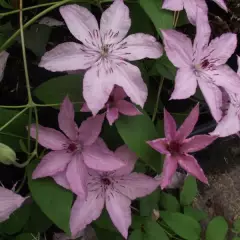
POLYGON ((64 98, 58 114, 59 128, 71 139, 76 140, 78 127, 74 121, 74 108, 70 99, 64 98))

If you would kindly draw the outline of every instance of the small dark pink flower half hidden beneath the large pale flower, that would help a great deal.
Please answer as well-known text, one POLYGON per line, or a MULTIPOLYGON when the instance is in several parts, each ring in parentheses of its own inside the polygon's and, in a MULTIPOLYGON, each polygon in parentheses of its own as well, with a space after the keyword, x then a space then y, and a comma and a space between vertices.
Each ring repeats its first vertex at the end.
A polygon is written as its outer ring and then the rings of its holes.
MULTIPOLYGON (((132 103, 124 100, 127 95, 123 88, 115 86, 105 108, 107 109, 106 117, 110 125, 112 125, 118 118, 119 113, 127 116, 136 116, 142 114, 132 103)), ((82 112, 90 112, 85 103, 81 109, 82 112)))

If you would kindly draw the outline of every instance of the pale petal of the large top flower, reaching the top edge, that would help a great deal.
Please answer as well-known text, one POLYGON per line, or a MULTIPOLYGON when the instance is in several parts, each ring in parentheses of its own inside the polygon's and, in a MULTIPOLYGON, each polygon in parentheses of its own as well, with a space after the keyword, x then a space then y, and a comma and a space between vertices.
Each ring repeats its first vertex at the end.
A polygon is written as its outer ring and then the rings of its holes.
POLYGON ((131 26, 129 9, 123 0, 115 0, 101 17, 100 32, 104 44, 120 42, 131 26))

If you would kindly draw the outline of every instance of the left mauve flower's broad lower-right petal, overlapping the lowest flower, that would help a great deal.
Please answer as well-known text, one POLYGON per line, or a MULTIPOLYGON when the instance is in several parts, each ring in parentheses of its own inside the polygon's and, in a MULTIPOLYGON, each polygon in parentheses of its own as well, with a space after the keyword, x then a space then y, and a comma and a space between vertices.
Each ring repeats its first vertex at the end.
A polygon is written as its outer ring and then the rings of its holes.
POLYGON ((98 138, 91 146, 85 147, 83 152, 85 164, 98 171, 114 171, 124 166, 101 138, 98 138))

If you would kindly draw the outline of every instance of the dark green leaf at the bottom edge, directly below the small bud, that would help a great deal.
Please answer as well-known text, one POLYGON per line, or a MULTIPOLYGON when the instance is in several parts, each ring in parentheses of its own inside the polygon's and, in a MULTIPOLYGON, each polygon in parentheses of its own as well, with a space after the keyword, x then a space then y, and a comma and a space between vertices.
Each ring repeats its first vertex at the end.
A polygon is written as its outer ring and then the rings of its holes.
POLYGON ((164 232, 164 229, 154 221, 148 221, 144 226, 146 240, 168 240, 168 236, 164 232))

